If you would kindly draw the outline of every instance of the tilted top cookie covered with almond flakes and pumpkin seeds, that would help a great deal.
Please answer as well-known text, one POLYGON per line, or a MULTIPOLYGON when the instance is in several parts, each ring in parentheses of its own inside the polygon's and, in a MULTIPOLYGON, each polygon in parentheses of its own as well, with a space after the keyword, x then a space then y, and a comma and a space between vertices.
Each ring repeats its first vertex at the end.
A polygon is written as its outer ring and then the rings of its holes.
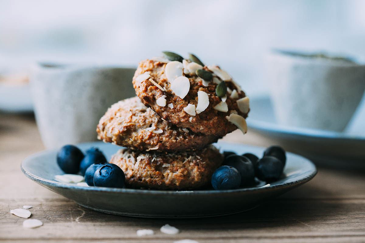
POLYGON ((174 55, 139 63, 133 86, 141 101, 166 121, 196 133, 223 137, 237 128, 246 133, 249 98, 230 75, 201 65, 195 56, 192 62, 174 55))

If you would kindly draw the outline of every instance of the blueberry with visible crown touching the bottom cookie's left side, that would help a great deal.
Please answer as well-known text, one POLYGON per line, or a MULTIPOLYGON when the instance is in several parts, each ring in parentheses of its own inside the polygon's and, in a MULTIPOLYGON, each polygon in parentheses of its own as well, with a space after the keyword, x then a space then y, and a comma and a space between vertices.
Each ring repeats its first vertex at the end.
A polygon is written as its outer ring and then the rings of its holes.
POLYGON ((105 164, 97 168, 94 173, 95 187, 124 187, 126 177, 124 172, 115 164, 105 164))

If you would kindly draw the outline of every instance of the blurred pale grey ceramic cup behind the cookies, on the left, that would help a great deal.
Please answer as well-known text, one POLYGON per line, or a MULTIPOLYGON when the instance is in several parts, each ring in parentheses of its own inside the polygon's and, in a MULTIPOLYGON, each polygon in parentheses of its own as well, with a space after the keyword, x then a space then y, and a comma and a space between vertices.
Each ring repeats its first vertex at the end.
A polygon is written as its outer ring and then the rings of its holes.
POLYGON ((113 103, 135 96, 135 68, 37 64, 30 84, 46 148, 96 140, 96 125, 113 103))

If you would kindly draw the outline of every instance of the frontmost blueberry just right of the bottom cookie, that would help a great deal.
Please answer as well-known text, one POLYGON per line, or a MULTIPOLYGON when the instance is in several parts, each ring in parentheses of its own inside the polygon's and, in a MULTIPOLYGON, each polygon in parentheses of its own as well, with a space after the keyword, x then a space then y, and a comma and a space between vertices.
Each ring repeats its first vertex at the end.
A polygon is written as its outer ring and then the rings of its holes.
POLYGON ((220 166, 212 175, 212 186, 216 190, 237 189, 241 184, 241 175, 232 166, 220 166))

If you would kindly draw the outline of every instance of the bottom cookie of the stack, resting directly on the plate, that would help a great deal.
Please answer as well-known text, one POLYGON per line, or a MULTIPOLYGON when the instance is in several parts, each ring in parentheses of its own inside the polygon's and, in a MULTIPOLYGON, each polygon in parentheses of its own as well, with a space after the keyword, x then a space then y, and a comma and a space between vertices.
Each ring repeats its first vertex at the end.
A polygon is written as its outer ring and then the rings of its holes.
POLYGON ((202 150, 176 153, 120 149, 110 162, 124 171, 128 187, 191 190, 210 184, 223 156, 212 145, 202 150))

